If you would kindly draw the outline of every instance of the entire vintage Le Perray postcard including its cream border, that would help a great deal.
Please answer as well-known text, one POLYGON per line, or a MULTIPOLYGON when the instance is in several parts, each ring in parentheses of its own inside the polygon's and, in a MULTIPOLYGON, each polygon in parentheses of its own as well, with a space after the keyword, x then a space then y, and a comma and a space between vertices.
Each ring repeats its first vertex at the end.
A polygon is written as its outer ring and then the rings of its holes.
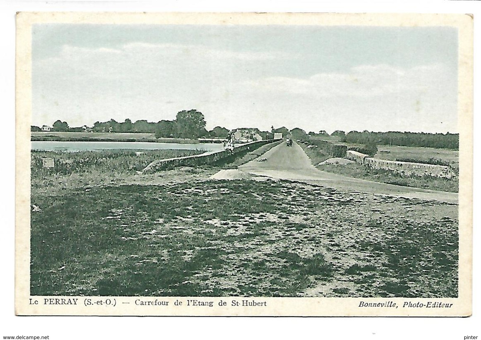
POLYGON ((16 39, 17 315, 471 315, 471 15, 19 12, 16 39))

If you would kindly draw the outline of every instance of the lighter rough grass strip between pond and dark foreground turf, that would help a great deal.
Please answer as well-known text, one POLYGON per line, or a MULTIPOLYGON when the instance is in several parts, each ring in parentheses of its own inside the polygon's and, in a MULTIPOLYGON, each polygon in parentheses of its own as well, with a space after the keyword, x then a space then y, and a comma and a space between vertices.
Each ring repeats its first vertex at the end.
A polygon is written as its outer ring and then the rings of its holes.
POLYGON ((183 174, 183 170, 167 171, 163 174, 142 175, 143 170, 157 159, 198 155, 203 150, 135 150, 117 149, 104 151, 32 151, 31 194, 65 193, 92 186, 121 185, 130 183, 159 183, 164 178, 192 176, 196 170, 183 174), (139 155, 136 152, 141 152, 139 155), (43 168, 42 158, 53 158, 54 168, 43 168))

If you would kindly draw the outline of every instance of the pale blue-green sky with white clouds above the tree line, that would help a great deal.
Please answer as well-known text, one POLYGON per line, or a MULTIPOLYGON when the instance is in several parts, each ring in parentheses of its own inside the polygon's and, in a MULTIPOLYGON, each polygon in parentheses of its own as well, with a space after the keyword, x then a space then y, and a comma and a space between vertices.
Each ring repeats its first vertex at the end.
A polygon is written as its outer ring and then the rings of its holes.
POLYGON ((453 27, 35 24, 32 124, 457 133, 453 27))

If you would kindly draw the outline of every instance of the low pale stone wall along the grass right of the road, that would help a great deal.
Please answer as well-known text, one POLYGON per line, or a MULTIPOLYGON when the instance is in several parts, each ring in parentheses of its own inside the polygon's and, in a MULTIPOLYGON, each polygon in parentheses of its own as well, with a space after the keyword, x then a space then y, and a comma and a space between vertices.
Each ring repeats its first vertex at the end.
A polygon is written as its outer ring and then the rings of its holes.
POLYGON ((431 176, 448 179, 456 177, 456 173, 453 170, 443 165, 378 159, 352 150, 347 151, 346 158, 355 160, 357 163, 364 164, 371 169, 389 170, 405 176, 431 176))

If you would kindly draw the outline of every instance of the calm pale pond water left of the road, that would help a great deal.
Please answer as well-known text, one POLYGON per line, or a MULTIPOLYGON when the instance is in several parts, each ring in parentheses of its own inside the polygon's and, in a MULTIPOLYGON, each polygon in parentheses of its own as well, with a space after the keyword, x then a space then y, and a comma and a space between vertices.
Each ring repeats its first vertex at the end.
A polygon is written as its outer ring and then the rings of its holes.
POLYGON ((221 143, 152 143, 152 142, 54 142, 35 141, 32 143, 32 150, 41 151, 101 151, 113 149, 140 149, 140 150, 204 150, 220 151, 224 149, 221 143))

